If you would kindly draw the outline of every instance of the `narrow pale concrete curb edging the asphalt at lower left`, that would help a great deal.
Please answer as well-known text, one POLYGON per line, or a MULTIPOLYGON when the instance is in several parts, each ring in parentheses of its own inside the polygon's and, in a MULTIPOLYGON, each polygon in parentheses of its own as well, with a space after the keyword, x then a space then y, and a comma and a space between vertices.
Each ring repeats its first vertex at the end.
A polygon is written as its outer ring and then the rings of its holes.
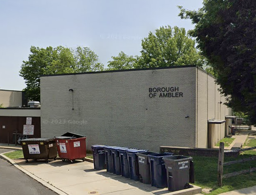
MULTIPOLYGON (((11 152, 11 151, 8 151, 11 152)), ((42 184, 43 186, 45 186, 46 188, 54 191, 55 193, 59 194, 59 195, 69 195, 66 192, 54 187, 53 185, 47 183, 46 181, 44 181, 43 179, 36 177, 35 175, 33 175, 32 173, 28 172, 27 170, 23 169, 22 167, 20 167, 17 163, 15 163, 12 159, 8 158, 7 156, 5 156, 5 153, 8 152, 4 152, 2 154, 0 154, 0 158, 6 160, 7 162, 11 163, 13 166, 15 166, 17 169, 21 170, 23 173, 25 173, 26 175, 28 175, 29 177, 31 177, 32 179, 35 179, 37 182, 39 182, 40 184, 42 184)))

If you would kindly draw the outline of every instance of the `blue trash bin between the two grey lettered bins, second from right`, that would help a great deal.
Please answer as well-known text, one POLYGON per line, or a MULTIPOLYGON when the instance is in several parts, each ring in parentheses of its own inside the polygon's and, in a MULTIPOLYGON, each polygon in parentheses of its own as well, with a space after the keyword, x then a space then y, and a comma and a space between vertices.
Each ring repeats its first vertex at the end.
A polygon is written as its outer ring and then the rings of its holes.
POLYGON ((148 155, 152 186, 157 188, 167 187, 166 169, 163 158, 172 155, 172 153, 157 153, 148 155))

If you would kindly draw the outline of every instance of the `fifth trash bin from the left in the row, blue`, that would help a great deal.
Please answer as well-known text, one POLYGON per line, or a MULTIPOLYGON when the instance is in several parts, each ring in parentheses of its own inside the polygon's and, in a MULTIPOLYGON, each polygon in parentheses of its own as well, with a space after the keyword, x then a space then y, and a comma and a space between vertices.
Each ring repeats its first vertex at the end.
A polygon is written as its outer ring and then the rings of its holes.
POLYGON ((139 180, 139 164, 136 153, 145 152, 146 150, 130 149, 126 152, 129 163, 130 179, 139 180))

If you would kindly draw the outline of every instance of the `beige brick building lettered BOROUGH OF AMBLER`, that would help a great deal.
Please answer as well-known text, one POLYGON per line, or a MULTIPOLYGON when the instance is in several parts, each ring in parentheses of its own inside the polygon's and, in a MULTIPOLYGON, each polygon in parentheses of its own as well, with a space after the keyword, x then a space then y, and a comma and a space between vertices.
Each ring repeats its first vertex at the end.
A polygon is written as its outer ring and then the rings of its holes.
POLYGON ((214 77, 197 66, 49 75, 40 84, 42 137, 74 132, 88 148, 211 148, 231 115, 214 77))

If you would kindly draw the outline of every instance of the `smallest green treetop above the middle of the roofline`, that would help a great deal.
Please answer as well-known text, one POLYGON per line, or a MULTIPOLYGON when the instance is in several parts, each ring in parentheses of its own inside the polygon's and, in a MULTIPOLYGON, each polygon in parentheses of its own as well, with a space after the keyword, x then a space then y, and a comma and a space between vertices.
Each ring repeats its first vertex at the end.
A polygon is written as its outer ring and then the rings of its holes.
POLYGON ((107 70, 123 70, 123 69, 133 69, 136 67, 138 56, 129 56, 121 51, 118 56, 112 56, 113 60, 108 61, 107 70))

